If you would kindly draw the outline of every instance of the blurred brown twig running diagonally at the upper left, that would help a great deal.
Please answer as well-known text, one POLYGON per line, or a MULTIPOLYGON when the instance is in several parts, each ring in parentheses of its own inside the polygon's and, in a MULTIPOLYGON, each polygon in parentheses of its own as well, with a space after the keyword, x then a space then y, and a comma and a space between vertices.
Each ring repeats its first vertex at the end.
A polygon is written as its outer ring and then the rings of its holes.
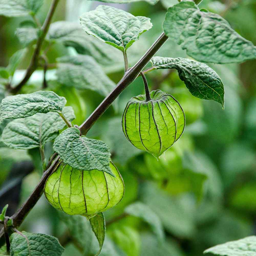
POLYGON ((38 61, 39 61, 39 54, 40 54, 40 50, 43 44, 43 41, 45 39, 45 36, 48 32, 50 23, 51 23, 51 19, 52 16, 55 12, 55 9, 57 7, 59 0, 53 0, 49 9, 49 12, 47 14, 47 17, 45 19, 44 24, 41 27, 41 34, 39 36, 39 38, 37 39, 37 43, 36 43, 36 48, 35 51, 33 53, 32 59, 29 63, 29 66, 27 68, 25 77, 22 79, 22 81, 15 87, 15 88, 10 88, 10 92, 16 94, 23 86, 24 84, 26 84, 26 82, 28 81, 28 79, 31 77, 31 75, 34 73, 34 71, 37 69, 38 67, 38 61))

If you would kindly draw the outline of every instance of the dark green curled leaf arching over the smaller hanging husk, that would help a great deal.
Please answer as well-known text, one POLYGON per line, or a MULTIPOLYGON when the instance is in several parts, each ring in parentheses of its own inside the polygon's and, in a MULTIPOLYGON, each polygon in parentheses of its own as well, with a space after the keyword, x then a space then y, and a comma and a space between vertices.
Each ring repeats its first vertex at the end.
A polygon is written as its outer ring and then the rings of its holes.
POLYGON ((183 58, 153 57, 152 69, 175 68, 179 78, 195 97, 215 100, 224 108, 224 86, 218 74, 206 64, 183 58))

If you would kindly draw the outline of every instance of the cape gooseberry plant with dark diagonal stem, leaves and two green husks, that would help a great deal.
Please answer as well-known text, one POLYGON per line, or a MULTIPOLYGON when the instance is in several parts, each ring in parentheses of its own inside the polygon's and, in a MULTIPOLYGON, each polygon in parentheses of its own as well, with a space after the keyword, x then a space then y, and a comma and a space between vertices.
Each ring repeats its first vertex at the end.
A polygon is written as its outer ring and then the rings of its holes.
MULTIPOLYGON (((121 2, 132 1, 134 0, 121 2)), ((72 123, 75 115, 72 107, 65 106, 66 99, 47 90, 45 78, 44 90, 18 94, 31 74, 40 66, 41 60, 47 67, 47 59, 42 54, 45 41, 59 40, 66 46, 73 46, 78 52, 82 51, 79 40, 72 42, 72 37, 75 37, 72 33, 76 29, 67 28, 66 34, 61 34, 59 29, 65 27, 65 23, 57 22, 50 27, 58 2, 59 0, 52 1, 42 26, 31 25, 33 22, 30 21, 24 22, 17 29, 17 36, 24 46, 35 43, 34 54, 23 80, 16 86, 11 83, 13 73, 24 54, 23 50, 17 52, 11 58, 9 66, 1 69, 0 72, 1 83, 5 84, 9 92, 9 96, 3 98, 0 105, 0 122, 5 126, 1 142, 14 149, 39 148, 44 170, 32 194, 13 216, 6 216, 7 206, 4 207, 0 215, 0 223, 4 226, 0 236, 5 236, 6 244, 1 248, 0 255, 61 255, 63 253, 64 249, 56 238, 17 230, 40 198, 42 191, 54 208, 68 215, 82 215, 89 219, 99 242, 98 255, 105 237, 105 221, 102 212, 114 207, 122 200, 124 183, 118 169, 111 162, 108 145, 86 136, 93 124, 119 94, 141 76, 145 95, 134 95, 127 103, 120 125, 129 142, 158 158, 182 135, 185 128, 185 115, 182 106, 172 95, 160 90, 149 91, 145 74, 156 69, 176 69, 179 78, 184 81, 192 95, 200 99, 217 101, 224 108, 223 83, 218 74, 202 62, 230 63, 256 58, 256 47, 236 33, 225 19, 206 9, 200 9, 197 6, 200 2, 198 0, 180 1, 167 10, 163 21, 163 33, 141 59, 134 66, 129 67, 127 51, 141 34, 151 29, 150 19, 133 16, 121 9, 99 5, 95 10, 84 13, 80 17, 84 31, 77 31, 79 34, 91 35, 91 41, 100 40, 115 47, 116 51, 122 51, 125 70, 123 78, 113 88, 109 78, 98 70, 99 66, 92 57, 85 56, 83 59, 80 56, 81 58, 77 60, 72 57, 60 59, 60 62, 81 65, 79 68, 84 69, 85 76, 88 74, 85 79, 88 84, 91 87, 95 86, 93 90, 106 96, 87 120, 79 126, 72 123), (191 58, 154 57, 168 37, 181 45, 191 58), (149 61, 152 66, 143 70, 149 61), (95 73, 93 73, 94 69, 95 73), (97 80, 95 74, 101 74, 103 78, 97 80), (62 130, 61 133, 60 130, 62 130), (55 153, 48 161, 45 157, 44 145, 53 140, 55 153)), ((111 2, 111 0, 104 2, 111 2)), ((114 2, 120 1, 114 0, 114 2)), ((149 2, 154 4, 157 1, 149 2)), ((35 18, 42 4, 43 0, 1 0, 0 14, 31 15, 35 18)), ((76 36, 78 37, 78 34, 76 36)), ((57 76, 59 72, 60 70, 57 71, 57 76)), ((65 78, 65 73, 67 71, 64 67, 62 81, 74 82, 74 80, 66 81, 65 79, 68 78, 65 78)), ((136 207, 134 207, 135 210, 136 207)), ((214 251, 214 248, 209 251, 221 253, 220 248, 217 249, 218 252, 214 251)))

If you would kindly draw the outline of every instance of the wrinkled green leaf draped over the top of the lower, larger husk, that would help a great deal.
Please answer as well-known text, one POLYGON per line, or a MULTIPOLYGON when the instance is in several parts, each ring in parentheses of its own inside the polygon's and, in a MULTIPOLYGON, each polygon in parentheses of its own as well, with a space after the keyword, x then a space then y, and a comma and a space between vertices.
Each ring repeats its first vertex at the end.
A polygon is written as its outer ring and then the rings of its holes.
POLYGON ((65 164, 80 170, 99 170, 114 176, 109 167, 110 149, 106 143, 80 136, 76 127, 63 131, 54 141, 54 150, 65 164))

